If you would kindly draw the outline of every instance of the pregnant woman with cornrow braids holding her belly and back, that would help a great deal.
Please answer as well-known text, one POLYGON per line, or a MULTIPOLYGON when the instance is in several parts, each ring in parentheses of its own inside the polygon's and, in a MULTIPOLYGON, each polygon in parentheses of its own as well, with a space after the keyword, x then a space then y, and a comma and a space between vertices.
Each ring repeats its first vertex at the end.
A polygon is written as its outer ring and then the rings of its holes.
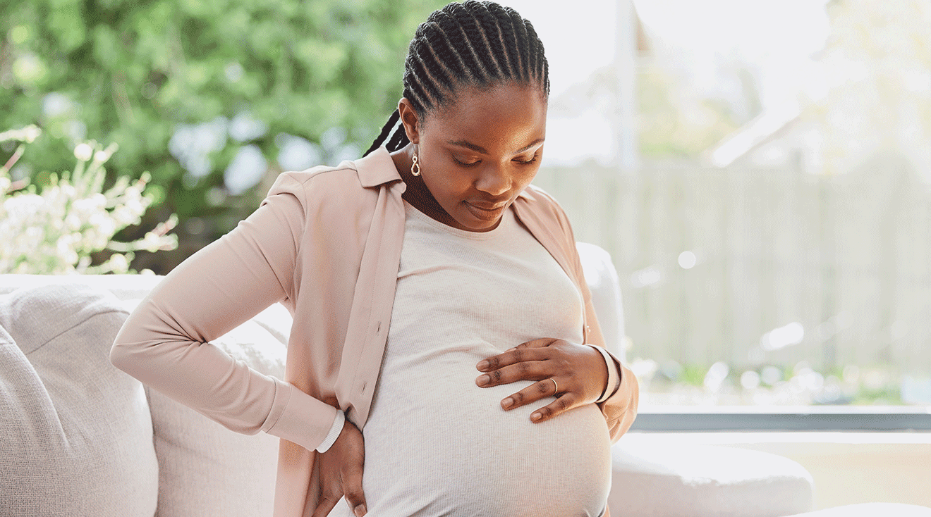
POLYGON ((543 45, 470 0, 420 25, 405 66, 364 157, 280 175, 142 300, 111 359, 280 437, 276 517, 608 515, 638 388, 603 348, 568 220, 530 185, 543 45), (210 344, 275 302, 284 379, 210 344))

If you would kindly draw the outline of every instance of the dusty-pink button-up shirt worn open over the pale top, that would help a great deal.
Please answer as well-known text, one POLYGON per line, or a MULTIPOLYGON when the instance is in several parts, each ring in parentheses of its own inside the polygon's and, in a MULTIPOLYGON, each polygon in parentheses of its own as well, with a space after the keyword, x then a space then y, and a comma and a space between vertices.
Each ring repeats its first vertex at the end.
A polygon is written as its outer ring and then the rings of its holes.
MULTIPOLYGON (((398 281, 404 188, 384 147, 281 174, 249 218, 172 270, 116 336, 111 361, 129 375, 228 429, 282 439, 276 517, 317 507, 314 449, 339 410, 363 430, 369 418, 398 281), (210 344, 275 302, 293 317, 283 380, 210 344)), ((603 346, 560 206, 529 187, 513 209, 582 293, 584 342, 603 346)), ((612 442, 638 398, 636 378, 614 362, 620 389, 598 404, 612 442)))

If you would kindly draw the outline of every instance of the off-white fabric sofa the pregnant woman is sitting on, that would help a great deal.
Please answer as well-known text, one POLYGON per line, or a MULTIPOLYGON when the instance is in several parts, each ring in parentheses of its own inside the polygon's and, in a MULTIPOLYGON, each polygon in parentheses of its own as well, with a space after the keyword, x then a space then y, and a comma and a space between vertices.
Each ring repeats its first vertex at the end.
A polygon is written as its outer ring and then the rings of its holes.
MULTIPOLYGON (((579 245, 609 348, 624 320, 606 252, 579 245)), ((0 517, 268 516, 277 438, 229 431, 117 370, 109 351, 155 275, 0 275, 0 517)), ((213 342, 283 376, 290 314, 273 305, 213 342)), ((812 510, 798 463, 728 447, 613 446, 612 515, 777 517, 812 510)), ((853 505, 806 515, 931 515, 853 505), (832 512, 833 511, 833 512, 832 512)), ((378 516, 374 516, 378 517, 378 516)))

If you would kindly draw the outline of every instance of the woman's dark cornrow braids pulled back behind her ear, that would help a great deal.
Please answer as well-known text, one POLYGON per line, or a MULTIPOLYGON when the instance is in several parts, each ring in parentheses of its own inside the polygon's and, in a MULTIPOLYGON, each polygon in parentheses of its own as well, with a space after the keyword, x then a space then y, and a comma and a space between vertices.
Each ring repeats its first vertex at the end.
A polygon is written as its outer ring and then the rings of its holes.
MULTIPOLYGON (((403 96, 418 116, 442 106, 459 86, 482 88, 505 81, 533 83, 549 95, 543 43, 531 22, 514 9, 494 2, 453 2, 417 27, 404 61, 403 96)), ((365 154, 385 142, 389 152, 407 145, 410 140, 399 120, 395 110, 365 154)))

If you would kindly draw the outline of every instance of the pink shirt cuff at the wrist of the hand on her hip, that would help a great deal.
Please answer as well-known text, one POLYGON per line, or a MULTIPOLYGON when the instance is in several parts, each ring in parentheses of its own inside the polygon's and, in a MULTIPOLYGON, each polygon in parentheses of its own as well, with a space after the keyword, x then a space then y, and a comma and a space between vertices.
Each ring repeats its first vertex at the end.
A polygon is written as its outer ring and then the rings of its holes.
POLYGON ((275 403, 263 431, 307 450, 315 450, 323 445, 330 436, 337 414, 342 416, 343 413, 292 384, 278 378, 275 382, 275 403))

